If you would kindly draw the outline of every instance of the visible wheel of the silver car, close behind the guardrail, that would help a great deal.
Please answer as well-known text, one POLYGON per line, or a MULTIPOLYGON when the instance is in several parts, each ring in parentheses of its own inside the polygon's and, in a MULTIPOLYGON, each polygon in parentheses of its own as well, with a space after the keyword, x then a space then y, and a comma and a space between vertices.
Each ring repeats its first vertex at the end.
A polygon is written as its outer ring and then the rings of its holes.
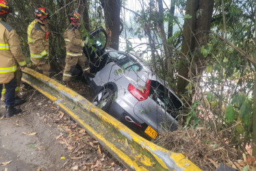
POLYGON ((114 91, 110 88, 105 88, 101 90, 92 100, 92 104, 103 109, 103 111, 108 111, 112 105, 114 99, 114 91))

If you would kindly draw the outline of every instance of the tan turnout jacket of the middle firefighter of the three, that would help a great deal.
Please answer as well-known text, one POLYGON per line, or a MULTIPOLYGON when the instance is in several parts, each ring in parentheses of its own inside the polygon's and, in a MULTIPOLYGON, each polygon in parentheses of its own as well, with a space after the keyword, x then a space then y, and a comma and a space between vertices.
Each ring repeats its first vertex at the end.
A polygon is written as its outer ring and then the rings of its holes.
POLYGON ((30 57, 40 59, 48 57, 49 32, 46 25, 39 19, 32 21, 27 27, 27 44, 29 44, 30 57))

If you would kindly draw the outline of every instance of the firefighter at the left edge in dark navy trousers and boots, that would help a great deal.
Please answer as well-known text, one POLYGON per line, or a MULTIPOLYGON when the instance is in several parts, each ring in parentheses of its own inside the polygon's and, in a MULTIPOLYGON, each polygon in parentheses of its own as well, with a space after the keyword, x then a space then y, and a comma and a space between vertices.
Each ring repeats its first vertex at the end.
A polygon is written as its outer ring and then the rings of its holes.
POLYGON ((7 118, 21 113, 21 109, 14 108, 17 86, 15 75, 18 67, 23 70, 26 65, 18 35, 12 26, 5 23, 10 9, 10 5, 5 0, 0 0, 0 91, 3 90, 4 83, 7 118))

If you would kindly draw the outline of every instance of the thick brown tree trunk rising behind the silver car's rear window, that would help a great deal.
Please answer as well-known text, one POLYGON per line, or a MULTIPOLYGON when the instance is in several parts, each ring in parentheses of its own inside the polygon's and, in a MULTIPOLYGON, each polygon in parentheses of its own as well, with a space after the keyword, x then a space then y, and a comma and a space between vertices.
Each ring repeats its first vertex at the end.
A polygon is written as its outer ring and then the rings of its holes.
MULTIPOLYGON (((211 28, 214 0, 188 0, 185 14, 192 18, 185 19, 183 27, 183 42, 181 47, 182 60, 179 75, 192 79, 201 75, 204 66, 201 46, 207 44, 207 35, 211 28), (190 75, 189 75, 190 73, 190 75)), ((183 94, 188 81, 179 77, 178 91, 183 94)))

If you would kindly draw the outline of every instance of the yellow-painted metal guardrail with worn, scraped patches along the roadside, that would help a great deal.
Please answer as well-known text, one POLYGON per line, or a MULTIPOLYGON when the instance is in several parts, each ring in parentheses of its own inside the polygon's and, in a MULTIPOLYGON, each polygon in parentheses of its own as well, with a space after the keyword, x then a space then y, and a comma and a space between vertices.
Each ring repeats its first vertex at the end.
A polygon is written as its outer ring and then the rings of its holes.
POLYGON ((172 153, 133 133, 86 98, 54 79, 25 68, 22 81, 64 109, 129 170, 200 170, 182 154, 172 153))

